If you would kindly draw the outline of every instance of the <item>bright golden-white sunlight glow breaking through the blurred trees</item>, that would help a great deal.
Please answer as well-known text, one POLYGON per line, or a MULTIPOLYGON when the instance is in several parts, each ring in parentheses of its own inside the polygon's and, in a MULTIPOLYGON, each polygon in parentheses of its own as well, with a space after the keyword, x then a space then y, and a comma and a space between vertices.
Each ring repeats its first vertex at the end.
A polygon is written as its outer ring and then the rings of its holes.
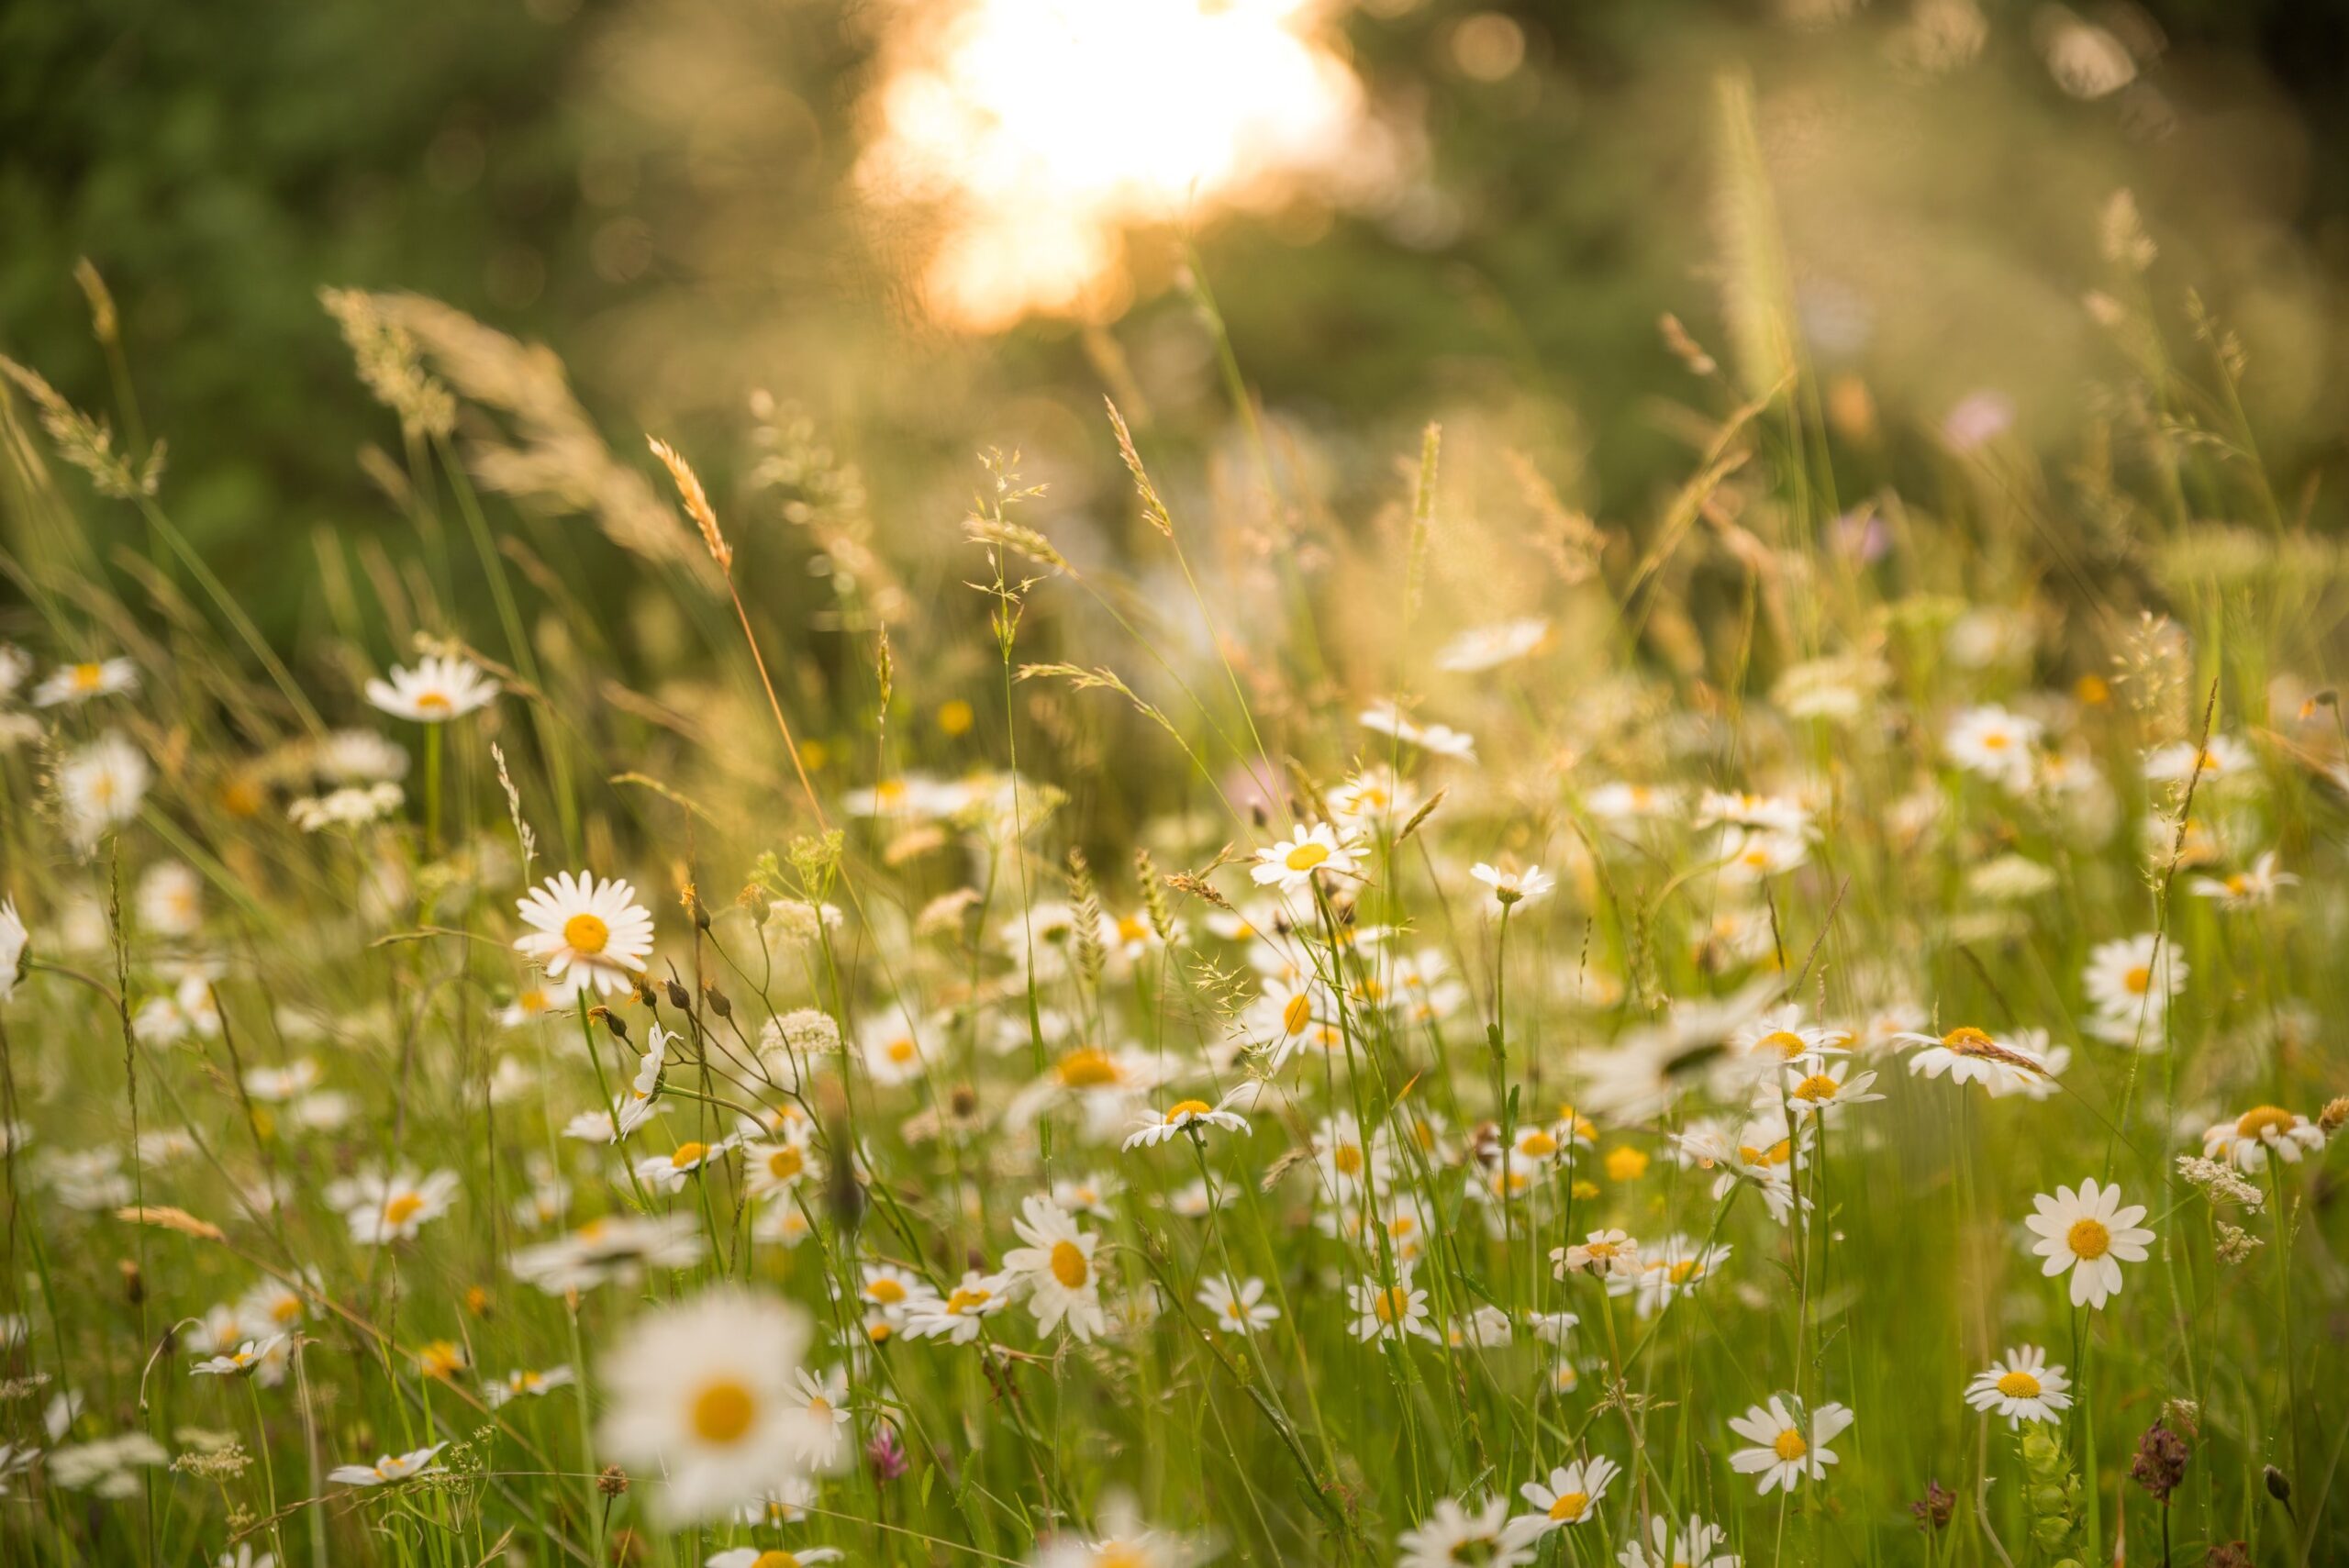
POLYGON ((1393 162, 1344 0, 909 0, 857 183, 937 223, 921 293, 970 331, 1102 319, 1125 230, 1346 195, 1393 162))

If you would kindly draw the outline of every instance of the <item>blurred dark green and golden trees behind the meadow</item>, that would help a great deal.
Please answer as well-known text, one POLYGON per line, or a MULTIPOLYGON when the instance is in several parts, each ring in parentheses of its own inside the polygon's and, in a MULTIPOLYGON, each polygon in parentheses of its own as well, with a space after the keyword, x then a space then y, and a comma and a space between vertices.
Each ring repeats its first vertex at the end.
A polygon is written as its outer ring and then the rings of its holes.
MULTIPOLYGON (((113 408, 73 282, 96 263, 139 413, 171 444, 174 514, 282 641, 317 613, 315 528, 406 526, 355 462, 397 427, 319 286, 409 289, 547 343, 627 458, 660 430, 723 477, 754 387, 801 401, 843 432, 897 542, 954 538, 984 444, 1022 446, 1055 507, 1120 512, 1104 387, 1160 448, 1233 439, 1172 286, 1184 254, 1135 237, 1092 331, 933 319, 904 265, 918 237, 855 183, 890 33, 921 9, 19 0, 0 7, 0 352, 113 408)), ((2267 455, 2307 481, 2342 455, 2349 392, 2344 16, 1365 0, 1325 26, 1409 171, 1374 202, 1306 185, 1191 237, 1247 383, 1299 430, 1409 451, 1431 415, 1487 420, 1574 505, 1633 516, 1689 458, 1658 317, 1719 347, 1712 82, 1734 66, 1816 357, 1865 364, 1884 406, 1924 418, 1997 387, 2058 448, 2098 352, 2079 310, 2098 211, 2131 185, 2175 291, 2194 282, 2246 333, 2290 441, 2267 455)), ((585 530, 580 552, 590 575, 630 568, 585 530)))

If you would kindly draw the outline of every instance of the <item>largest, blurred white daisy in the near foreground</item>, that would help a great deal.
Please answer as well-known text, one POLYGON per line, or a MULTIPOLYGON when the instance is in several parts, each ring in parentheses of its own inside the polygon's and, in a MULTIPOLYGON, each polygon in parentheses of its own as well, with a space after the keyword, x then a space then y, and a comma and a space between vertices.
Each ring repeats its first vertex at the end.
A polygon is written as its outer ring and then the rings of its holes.
POLYGON ((662 1519, 723 1519, 803 1469, 810 1418, 794 1373, 806 1347, 808 1314, 780 1296, 719 1286, 655 1307, 604 1359, 601 1446, 660 1476, 662 1519))

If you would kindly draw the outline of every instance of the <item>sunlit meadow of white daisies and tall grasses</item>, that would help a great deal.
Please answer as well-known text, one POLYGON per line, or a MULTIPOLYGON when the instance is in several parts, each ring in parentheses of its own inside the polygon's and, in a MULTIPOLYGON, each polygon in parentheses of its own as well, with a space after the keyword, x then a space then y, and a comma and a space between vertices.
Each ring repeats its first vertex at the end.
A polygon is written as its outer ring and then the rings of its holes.
POLYGON ((0 1561, 2349 1561, 2344 559, 2105 230, 2062 472, 1757 272, 1654 514, 1217 336, 1132 568, 329 293, 298 646, 0 361, 0 1561))

